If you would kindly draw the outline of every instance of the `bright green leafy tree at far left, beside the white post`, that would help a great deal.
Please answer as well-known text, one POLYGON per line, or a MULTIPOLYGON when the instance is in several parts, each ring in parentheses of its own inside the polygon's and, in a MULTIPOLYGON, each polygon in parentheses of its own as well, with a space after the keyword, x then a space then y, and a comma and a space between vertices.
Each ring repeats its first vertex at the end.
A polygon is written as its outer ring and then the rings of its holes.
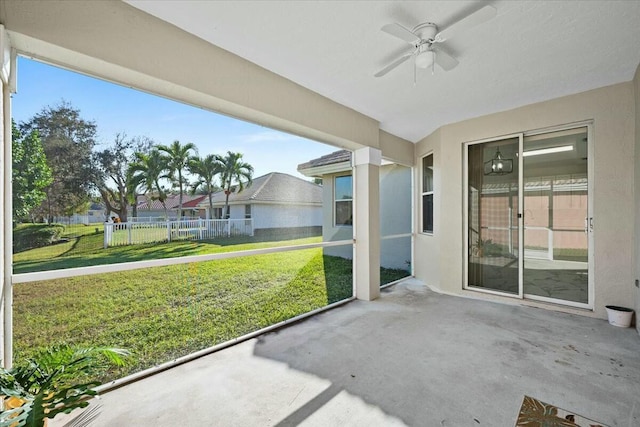
POLYGON ((13 219, 23 219, 47 197, 44 189, 51 184, 51 168, 47 165, 37 131, 23 135, 11 121, 13 219))

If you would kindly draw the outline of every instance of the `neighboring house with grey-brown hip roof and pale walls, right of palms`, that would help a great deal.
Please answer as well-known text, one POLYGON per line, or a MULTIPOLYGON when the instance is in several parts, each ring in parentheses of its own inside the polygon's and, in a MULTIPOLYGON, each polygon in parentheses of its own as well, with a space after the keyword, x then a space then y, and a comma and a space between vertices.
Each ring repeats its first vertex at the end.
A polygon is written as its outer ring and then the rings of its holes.
MULTIPOLYGON (((226 195, 213 195, 213 218, 222 218, 226 195)), ((206 196, 197 209, 208 217, 209 199, 206 196)), ((322 187, 295 176, 271 172, 253 179, 243 191, 229 195, 229 218, 252 219, 254 233, 275 230, 303 231, 320 234, 322 227, 322 187)))

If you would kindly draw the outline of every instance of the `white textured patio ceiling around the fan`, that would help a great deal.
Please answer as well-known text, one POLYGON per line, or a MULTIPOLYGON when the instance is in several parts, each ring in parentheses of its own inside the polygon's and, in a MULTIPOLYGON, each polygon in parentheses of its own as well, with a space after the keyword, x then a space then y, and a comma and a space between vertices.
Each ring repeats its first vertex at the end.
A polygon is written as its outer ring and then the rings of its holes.
POLYGON ((380 122, 416 142, 438 127, 614 83, 640 62, 640 1, 149 1, 129 4, 380 122), (448 40, 449 72, 411 61, 380 31, 440 29, 484 4, 493 20, 448 40))

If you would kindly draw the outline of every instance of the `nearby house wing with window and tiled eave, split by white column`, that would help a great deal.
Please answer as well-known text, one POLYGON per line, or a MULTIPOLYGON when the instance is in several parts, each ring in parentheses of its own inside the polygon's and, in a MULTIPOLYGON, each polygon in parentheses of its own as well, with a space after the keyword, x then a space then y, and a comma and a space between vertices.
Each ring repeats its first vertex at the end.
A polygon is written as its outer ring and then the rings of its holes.
MULTIPOLYGON (((352 154, 347 150, 298 165, 323 183, 323 241, 353 238, 352 154)), ((383 161, 380 167, 380 264, 409 269, 411 264, 411 169, 383 161)), ((327 255, 351 259, 351 247, 325 248, 327 255)))

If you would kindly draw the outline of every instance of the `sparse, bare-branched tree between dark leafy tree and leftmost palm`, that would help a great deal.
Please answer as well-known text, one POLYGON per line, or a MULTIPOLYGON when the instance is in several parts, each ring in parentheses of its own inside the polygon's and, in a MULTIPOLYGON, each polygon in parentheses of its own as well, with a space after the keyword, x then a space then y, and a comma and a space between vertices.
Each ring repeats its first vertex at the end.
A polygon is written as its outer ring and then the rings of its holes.
POLYGON ((151 141, 145 138, 127 139, 125 134, 117 134, 111 147, 94 154, 94 184, 107 212, 115 212, 122 222, 127 222, 129 206, 136 203, 129 165, 135 161, 135 153, 148 151, 150 146, 151 141))

